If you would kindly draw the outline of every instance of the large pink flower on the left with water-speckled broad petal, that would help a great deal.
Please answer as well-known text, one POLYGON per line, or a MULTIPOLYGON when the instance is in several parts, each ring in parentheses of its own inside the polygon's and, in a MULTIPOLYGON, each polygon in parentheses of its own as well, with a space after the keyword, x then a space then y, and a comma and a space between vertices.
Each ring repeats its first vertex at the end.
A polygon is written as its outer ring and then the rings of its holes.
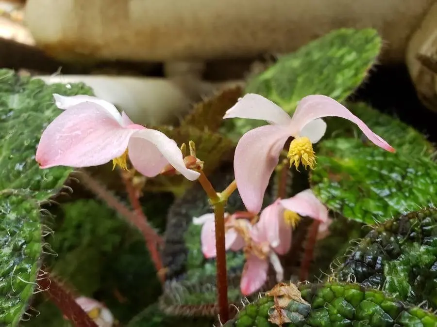
POLYGON ((199 177, 199 172, 186 168, 174 140, 134 124, 111 103, 88 95, 53 97, 65 111, 41 136, 35 157, 41 168, 90 167, 111 160, 123 167, 128 153, 134 168, 145 176, 154 177, 170 164, 189 180, 199 177))

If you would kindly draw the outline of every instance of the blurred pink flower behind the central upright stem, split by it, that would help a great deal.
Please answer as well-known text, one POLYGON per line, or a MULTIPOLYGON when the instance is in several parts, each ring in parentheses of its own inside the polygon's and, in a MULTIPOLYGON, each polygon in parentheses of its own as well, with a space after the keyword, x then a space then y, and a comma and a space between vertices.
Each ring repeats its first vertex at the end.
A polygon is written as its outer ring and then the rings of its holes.
MULTIPOLYGON (((241 220, 239 223, 250 224, 247 220, 241 220)), ((202 253, 207 259, 215 258, 217 256, 216 251, 216 225, 214 213, 204 214, 200 217, 193 218, 193 224, 202 225, 201 243, 202 253)), ((238 251, 244 246, 244 239, 234 229, 235 217, 225 213, 225 249, 232 249, 238 251)))

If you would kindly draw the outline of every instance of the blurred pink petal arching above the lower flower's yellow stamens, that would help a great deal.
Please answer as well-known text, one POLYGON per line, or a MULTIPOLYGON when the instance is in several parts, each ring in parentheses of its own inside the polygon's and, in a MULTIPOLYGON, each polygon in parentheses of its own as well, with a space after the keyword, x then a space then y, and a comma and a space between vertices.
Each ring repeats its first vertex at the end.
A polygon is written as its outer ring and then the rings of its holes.
POLYGON ((281 204, 284 208, 294 211, 300 216, 311 217, 322 222, 328 219, 328 209, 309 188, 296 194, 294 197, 281 200, 281 204))

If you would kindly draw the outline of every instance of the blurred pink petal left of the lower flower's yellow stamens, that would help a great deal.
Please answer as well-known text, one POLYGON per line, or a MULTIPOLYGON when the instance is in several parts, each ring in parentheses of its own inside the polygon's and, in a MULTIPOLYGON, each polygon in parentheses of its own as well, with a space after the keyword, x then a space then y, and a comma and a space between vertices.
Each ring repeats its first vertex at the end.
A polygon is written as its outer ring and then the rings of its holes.
POLYGON ((284 220, 284 208, 279 199, 261 212, 253 231, 255 242, 269 242, 278 254, 286 254, 291 247, 291 227, 284 220))

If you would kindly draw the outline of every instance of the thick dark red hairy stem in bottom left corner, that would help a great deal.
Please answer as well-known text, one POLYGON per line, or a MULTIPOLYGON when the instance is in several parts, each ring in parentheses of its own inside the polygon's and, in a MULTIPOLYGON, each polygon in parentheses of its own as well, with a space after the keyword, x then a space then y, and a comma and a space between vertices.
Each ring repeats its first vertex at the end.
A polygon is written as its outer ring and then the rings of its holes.
POLYGON ((37 279, 38 287, 59 308, 64 316, 76 327, 98 327, 88 314, 76 303, 75 297, 47 272, 41 268, 37 279))

